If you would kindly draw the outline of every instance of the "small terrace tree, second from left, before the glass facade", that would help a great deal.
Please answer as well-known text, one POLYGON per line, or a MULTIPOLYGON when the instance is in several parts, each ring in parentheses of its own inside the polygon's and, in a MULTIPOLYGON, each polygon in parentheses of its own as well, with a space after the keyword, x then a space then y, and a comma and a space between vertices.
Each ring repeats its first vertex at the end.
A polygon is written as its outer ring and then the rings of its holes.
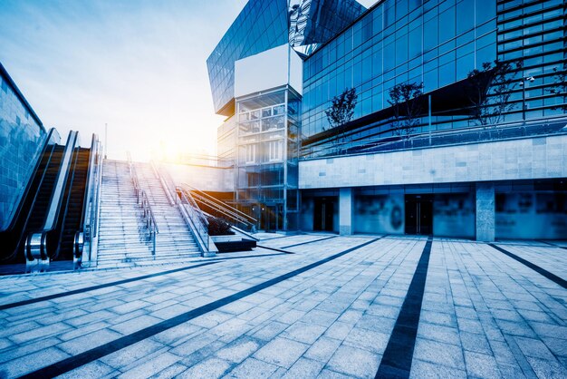
POLYGON ((401 83, 389 89, 389 105, 394 112, 392 127, 397 135, 408 137, 419 123, 423 83, 401 83))

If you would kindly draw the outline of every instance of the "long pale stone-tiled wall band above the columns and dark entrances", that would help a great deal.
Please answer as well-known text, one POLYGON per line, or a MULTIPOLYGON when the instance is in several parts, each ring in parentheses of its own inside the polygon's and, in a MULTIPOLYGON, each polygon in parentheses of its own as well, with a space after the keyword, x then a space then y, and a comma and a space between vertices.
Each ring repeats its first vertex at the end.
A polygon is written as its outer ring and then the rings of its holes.
POLYGON ((299 162, 299 188, 567 177, 567 134, 299 162))

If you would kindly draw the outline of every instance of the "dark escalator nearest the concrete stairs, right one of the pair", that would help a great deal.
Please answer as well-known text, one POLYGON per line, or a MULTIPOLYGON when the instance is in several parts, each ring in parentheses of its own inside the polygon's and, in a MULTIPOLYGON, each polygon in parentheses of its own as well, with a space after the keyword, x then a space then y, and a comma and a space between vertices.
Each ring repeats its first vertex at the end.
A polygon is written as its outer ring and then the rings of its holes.
POLYGON ((75 238, 82 231, 91 149, 77 147, 55 228, 47 233, 47 255, 52 261, 72 261, 75 238))

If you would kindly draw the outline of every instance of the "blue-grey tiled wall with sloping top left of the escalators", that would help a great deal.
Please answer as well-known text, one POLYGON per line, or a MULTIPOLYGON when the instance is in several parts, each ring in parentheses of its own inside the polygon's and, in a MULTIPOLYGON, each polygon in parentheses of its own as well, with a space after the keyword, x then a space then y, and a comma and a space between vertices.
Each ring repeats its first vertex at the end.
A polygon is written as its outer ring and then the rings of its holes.
POLYGON ((0 230, 12 219, 45 134, 14 88, 0 76, 0 230))

